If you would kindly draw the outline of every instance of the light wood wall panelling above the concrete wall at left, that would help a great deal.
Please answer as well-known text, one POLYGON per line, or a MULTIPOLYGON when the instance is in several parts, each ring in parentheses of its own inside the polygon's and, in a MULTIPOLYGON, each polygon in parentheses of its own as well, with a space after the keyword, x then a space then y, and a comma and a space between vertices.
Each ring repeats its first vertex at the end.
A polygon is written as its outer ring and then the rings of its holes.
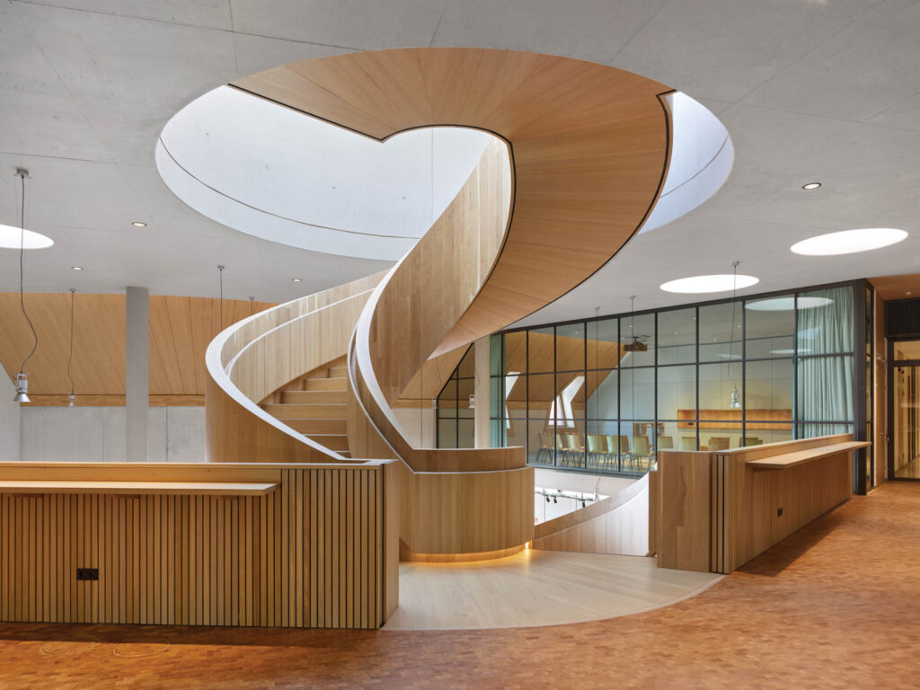
MULTIPOLYGON (((70 293, 27 293, 26 309, 39 336, 29 361, 30 405, 67 404, 70 379, 70 293)), ((204 351, 221 328, 220 300, 150 296, 150 396, 152 405, 203 405, 204 351)), ((273 306, 224 300, 223 325, 273 306)), ((74 295, 74 359, 71 374, 77 405, 124 405, 124 295, 74 295)), ((6 374, 32 348, 18 293, 0 293, 0 362, 6 374)))

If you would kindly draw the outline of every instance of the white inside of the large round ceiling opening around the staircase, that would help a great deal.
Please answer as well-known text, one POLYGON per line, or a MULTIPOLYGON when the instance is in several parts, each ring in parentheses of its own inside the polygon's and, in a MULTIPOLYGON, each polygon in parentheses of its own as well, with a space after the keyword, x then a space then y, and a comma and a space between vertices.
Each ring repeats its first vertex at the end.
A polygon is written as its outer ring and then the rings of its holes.
MULTIPOLYGON (((719 190, 729 133, 693 98, 664 97, 672 151, 641 232, 719 190)), ((247 235, 357 259, 401 259, 454 199, 493 136, 463 127, 381 143, 233 86, 181 109, 160 134, 156 167, 192 209, 247 235)))

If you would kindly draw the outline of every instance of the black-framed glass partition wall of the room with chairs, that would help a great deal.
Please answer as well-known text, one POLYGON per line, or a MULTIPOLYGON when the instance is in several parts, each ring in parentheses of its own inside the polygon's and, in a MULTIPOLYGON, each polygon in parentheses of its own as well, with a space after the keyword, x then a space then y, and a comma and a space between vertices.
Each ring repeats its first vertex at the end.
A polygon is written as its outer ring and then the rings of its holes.
MULTIPOLYGON (((492 444, 522 445, 534 465, 636 476, 661 450, 851 432, 854 293, 862 289, 848 283, 492 336, 492 444)), ((452 386, 462 378, 445 387, 460 408, 465 398, 452 386)), ((456 447, 462 421, 446 421, 439 410, 439 446, 456 447)))

